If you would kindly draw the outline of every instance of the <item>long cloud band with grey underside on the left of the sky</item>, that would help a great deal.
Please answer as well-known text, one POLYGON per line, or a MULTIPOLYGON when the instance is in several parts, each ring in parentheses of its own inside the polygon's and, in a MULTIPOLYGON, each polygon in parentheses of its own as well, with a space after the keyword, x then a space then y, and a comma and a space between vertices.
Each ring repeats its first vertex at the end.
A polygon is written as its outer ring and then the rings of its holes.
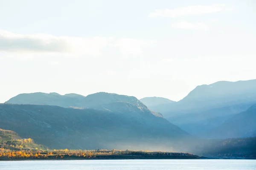
POLYGON ((151 41, 113 37, 57 37, 49 34, 15 34, 0 30, 0 51, 69 53, 99 56, 106 47, 114 47, 121 54, 142 54, 151 41))

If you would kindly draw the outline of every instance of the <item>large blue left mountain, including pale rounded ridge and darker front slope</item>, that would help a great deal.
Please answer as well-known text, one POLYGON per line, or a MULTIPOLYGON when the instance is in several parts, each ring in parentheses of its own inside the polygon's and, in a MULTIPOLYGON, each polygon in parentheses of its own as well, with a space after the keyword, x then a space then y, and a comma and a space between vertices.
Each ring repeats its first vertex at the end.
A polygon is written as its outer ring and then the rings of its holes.
POLYGON ((20 94, 0 105, 0 117, 1 128, 57 149, 179 150, 194 139, 137 98, 118 94, 20 94))

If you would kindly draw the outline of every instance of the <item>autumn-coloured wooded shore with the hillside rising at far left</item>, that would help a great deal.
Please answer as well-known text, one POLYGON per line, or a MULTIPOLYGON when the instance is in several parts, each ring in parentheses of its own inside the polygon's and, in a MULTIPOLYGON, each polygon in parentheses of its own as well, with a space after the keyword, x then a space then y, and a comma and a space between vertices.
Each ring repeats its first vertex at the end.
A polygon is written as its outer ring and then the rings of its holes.
POLYGON ((22 139, 16 132, 0 129, 1 160, 58 159, 199 159, 190 153, 152 152, 148 150, 49 150, 33 139, 22 139))

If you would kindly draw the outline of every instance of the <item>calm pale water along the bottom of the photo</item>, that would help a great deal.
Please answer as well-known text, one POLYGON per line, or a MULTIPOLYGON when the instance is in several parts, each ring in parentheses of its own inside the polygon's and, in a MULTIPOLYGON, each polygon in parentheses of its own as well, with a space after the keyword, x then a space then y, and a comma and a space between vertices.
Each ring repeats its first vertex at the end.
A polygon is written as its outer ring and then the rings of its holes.
POLYGON ((256 170, 256 160, 0 161, 0 170, 256 170))

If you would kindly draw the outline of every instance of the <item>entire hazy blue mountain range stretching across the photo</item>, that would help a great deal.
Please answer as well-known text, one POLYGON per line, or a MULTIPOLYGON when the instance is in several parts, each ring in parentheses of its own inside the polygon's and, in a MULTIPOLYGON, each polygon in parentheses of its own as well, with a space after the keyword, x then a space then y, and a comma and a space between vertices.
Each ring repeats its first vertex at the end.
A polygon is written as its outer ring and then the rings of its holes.
POLYGON ((201 85, 178 102, 105 92, 39 92, 1 104, 0 128, 57 149, 187 151, 204 145, 202 138, 256 136, 255 104, 256 80, 201 85))

